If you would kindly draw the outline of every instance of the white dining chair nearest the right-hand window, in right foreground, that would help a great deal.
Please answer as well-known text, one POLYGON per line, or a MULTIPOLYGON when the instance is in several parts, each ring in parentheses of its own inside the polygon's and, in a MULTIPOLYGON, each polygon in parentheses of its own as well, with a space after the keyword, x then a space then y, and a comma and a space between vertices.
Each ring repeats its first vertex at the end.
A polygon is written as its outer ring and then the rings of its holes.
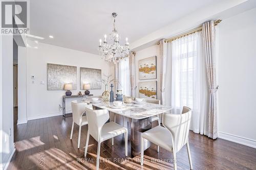
POLYGON ((157 126, 141 135, 140 164, 143 165, 143 141, 147 139, 174 155, 174 169, 177 169, 176 153, 186 144, 190 169, 193 169, 190 149, 188 144, 191 109, 183 107, 182 114, 167 114, 163 116, 163 126, 157 126))

